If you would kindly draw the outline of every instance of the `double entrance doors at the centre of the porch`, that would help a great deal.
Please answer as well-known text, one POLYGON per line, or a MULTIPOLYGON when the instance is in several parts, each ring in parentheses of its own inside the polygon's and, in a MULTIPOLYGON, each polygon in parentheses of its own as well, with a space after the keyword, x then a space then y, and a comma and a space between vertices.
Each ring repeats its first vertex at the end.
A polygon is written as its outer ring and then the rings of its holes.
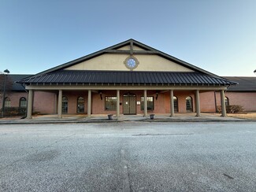
POLYGON ((135 94, 124 94, 124 115, 136 114, 136 96, 135 94))

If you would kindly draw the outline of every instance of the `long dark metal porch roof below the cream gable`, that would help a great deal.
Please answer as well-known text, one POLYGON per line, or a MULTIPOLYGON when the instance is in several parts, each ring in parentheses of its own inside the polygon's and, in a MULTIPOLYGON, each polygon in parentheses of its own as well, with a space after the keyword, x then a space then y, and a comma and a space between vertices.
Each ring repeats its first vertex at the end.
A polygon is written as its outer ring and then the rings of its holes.
POLYGON ((232 85, 235 82, 199 72, 131 72, 61 70, 21 79, 19 83, 146 83, 232 85))

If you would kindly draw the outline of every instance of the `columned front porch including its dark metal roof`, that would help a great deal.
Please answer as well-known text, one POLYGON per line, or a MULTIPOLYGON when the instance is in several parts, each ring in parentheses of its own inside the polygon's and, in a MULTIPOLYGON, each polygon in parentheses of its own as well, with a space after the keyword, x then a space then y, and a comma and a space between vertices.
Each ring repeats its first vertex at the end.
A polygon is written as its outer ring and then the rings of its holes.
POLYGON ((60 70, 22 79, 28 90, 27 118, 32 118, 34 91, 56 94, 55 113, 92 114, 195 112, 201 116, 200 93, 221 92, 221 116, 226 116, 224 91, 234 82, 199 72, 112 72, 60 70), (144 110, 147 109, 147 110, 144 110))

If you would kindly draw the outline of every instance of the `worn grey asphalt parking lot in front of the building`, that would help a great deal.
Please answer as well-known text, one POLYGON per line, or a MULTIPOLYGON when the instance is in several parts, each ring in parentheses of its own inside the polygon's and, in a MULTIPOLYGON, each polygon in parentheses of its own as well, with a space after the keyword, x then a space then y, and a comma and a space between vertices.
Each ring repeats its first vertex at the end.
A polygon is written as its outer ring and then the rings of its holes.
POLYGON ((256 122, 0 125, 0 191, 255 191, 256 122))

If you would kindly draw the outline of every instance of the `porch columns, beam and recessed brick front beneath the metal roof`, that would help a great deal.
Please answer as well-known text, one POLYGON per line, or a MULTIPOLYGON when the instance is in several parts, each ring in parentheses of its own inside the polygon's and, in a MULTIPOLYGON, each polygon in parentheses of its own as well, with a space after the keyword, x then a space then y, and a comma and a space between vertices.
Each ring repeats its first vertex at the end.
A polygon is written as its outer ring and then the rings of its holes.
MULTIPOLYGON (((143 115, 165 114, 171 117, 179 113, 195 113, 201 116, 200 93, 213 91, 212 87, 34 87, 28 90, 28 114, 32 118, 35 90, 51 91, 56 94, 55 113, 63 115, 114 114, 143 115), (91 88, 91 89, 89 89, 91 88), (173 88, 170 89, 169 88, 173 88), (197 88, 197 89, 195 89, 197 88), (58 90, 56 90, 58 89, 58 90), (144 110, 147 109, 147 110, 144 110)), ((226 116, 223 87, 214 87, 221 92, 221 116, 226 116), (222 88, 222 89, 221 89, 222 88)))

